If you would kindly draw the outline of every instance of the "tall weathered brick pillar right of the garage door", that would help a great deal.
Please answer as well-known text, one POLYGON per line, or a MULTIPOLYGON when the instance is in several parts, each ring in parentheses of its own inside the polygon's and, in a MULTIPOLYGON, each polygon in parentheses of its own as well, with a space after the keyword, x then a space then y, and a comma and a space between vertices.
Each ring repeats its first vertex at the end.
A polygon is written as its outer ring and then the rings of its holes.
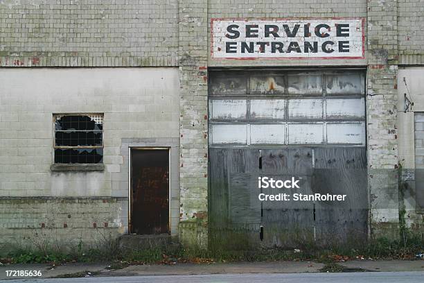
POLYGON ((397 235, 397 1, 368 2, 366 121, 371 235, 397 235))

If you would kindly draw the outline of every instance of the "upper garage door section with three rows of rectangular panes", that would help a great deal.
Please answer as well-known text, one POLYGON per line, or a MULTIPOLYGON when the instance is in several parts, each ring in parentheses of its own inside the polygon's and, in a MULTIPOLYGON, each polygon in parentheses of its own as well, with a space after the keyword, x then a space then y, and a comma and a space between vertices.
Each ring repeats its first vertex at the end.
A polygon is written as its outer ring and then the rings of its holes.
POLYGON ((209 145, 365 145, 362 71, 212 73, 209 145))

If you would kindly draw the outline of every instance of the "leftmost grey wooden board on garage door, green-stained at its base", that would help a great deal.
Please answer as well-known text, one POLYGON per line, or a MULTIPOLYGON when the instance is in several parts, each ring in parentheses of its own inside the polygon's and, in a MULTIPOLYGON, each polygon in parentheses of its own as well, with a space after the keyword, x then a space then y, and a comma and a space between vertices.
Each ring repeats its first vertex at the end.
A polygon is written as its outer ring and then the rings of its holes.
MULTIPOLYGON (((259 246, 260 207, 251 206, 247 149, 209 148, 209 247, 251 250, 259 246), (231 167, 231 168, 230 168, 231 167), (230 172, 236 174, 229 178, 230 172), (232 182, 230 182, 232 180, 232 182), (230 185, 232 187, 230 188, 230 185), (232 201, 230 193, 232 192, 232 201), (231 204, 232 203, 232 204, 231 204), (230 209, 233 209, 233 223, 230 209), (250 212, 249 212, 250 210, 250 212), (240 216, 238 218, 238 216, 240 216)), ((254 151, 252 151, 252 156, 254 151)), ((259 203, 258 200, 256 202, 259 203)), ((260 203, 259 203, 260 204, 260 203)))

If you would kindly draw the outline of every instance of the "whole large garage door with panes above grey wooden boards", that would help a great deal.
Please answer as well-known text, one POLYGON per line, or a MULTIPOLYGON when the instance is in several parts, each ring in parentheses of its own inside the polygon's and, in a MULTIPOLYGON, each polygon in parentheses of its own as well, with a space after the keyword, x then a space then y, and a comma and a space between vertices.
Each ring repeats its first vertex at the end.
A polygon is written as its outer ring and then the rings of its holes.
POLYGON ((363 71, 213 71, 209 77, 211 246, 366 239, 363 71), (264 191, 258 188, 264 176, 295 177, 301 189, 264 191), (346 194, 346 201, 260 201, 260 193, 346 194))

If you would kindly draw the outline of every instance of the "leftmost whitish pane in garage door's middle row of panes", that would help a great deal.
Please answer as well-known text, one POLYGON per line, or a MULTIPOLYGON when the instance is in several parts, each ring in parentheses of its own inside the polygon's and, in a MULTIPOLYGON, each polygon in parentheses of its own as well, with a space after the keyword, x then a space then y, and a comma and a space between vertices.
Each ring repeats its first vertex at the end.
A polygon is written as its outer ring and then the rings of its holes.
POLYGON ((245 119, 247 101, 245 99, 214 99, 211 101, 209 116, 212 119, 245 119))

